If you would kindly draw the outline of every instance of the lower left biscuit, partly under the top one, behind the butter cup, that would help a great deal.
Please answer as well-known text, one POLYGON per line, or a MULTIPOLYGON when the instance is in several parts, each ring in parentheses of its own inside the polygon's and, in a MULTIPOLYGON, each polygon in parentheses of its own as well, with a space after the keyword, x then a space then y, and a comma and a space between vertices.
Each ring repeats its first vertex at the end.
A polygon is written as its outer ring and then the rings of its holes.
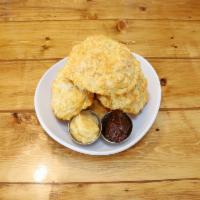
POLYGON ((93 94, 74 86, 64 71, 61 70, 53 82, 51 105, 57 118, 70 120, 92 104, 93 94))

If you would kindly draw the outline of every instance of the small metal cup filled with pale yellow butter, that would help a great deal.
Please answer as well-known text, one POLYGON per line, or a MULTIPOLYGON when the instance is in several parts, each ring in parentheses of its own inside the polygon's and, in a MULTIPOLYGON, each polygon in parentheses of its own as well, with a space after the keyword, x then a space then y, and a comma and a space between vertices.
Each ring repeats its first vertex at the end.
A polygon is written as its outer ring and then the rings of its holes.
POLYGON ((90 111, 82 111, 70 122, 70 134, 82 144, 90 144, 99 136, 99 121, 90 111))

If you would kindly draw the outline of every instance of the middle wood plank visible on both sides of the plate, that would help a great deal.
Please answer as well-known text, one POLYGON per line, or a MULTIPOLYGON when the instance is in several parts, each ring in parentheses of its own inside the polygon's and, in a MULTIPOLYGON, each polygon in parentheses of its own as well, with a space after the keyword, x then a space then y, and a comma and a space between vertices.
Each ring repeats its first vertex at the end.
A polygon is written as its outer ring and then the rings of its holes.
MULTIPOLYGON (((0 62, 0 110, 33 109, 36 85, 55 62, 0 62)), ((161 108, 200 107, 200 60, 150 59, 150 62, 162 80, 161 108)))

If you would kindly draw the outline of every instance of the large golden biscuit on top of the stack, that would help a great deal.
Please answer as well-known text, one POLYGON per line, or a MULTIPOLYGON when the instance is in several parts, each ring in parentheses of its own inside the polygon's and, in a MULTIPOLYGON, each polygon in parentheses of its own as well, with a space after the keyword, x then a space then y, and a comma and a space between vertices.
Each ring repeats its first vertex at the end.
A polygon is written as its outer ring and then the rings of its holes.
POLYGON ((105 36, 91 36, 74 46, 66 68, 75 85, 101 95, 129 92, 140 72, 131 51, 105 36))

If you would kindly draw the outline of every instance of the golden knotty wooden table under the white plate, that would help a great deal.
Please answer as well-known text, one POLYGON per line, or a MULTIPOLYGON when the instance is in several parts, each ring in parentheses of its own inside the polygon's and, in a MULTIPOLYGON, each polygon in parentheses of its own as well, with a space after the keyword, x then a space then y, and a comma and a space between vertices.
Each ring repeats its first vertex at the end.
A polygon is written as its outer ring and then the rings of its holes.
POLYGON ((200 199, 200 2, 0 1, 0 199, 200 199), (136 146, 88 156, 40 127, 42 74, 88 35, 106 34, 145 56, 162 104, 136 146))

